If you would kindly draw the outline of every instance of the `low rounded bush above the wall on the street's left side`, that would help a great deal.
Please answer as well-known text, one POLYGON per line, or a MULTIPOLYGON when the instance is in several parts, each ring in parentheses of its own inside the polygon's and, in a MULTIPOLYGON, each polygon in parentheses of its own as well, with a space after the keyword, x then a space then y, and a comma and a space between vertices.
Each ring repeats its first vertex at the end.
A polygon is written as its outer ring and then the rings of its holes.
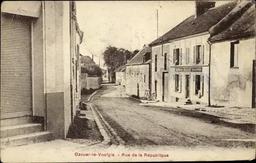
POLYGON ((102 76, 102 69, 94 63, 81 65, 81 73, 87 73, 88 76, 102 76))

